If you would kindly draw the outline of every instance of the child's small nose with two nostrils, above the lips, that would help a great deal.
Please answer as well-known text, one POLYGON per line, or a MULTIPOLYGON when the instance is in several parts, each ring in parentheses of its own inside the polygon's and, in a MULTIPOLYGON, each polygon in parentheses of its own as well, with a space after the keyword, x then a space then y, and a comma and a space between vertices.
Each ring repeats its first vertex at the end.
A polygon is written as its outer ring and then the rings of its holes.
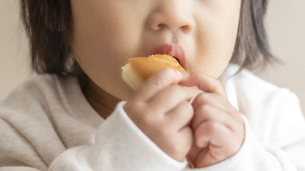
POLYGON ((191 15, 192 1, 160 1, 149 15, 148 23, 152 30, 164 28, 181 29, 189 33, 194 29, 195 21, 191 15))

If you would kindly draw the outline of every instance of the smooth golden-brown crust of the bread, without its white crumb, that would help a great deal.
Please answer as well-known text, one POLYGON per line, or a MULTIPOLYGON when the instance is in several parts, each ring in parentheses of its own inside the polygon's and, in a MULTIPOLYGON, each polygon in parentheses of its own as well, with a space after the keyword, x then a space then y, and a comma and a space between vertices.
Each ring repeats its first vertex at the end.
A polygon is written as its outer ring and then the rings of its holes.
POLYGON ((156 54, 149 57, 129 58, 129 64, 144 80, 148 79, 152 74, 164 67, 174 68, 181 73, 186 73, 179 62, 167 54, 156 54))

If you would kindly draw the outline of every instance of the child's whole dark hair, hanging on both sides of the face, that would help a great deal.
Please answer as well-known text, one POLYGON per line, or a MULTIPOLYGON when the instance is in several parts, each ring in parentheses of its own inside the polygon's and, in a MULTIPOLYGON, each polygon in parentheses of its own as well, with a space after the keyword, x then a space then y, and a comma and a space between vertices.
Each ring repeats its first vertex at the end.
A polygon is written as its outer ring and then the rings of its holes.
MULTIPOLYGON (((74 75, 84 86, 88 76, 73 54, 70 0, 20 0, 20 9, 30 42, 32 70, 61 77, 74 75)), ((266 9, 267 0, 242 0, 238 34, 230 61, 240 66, 238 72, 243 68, 265 68, 267 64, 279 61, 268 47, 264 29, 266 9)))

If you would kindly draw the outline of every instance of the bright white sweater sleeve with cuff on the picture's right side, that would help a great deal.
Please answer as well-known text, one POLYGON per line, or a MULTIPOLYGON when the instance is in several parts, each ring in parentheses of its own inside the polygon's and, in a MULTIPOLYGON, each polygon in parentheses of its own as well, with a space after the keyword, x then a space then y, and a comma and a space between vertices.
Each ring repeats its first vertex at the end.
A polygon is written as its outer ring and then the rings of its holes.
POLYGON ((183 171, 305 171, 305 121, 299 100, 289 92, 276 106, 267 145, 258 141, 242 115, 245 138, 235 155, 211 166, 183 171))

